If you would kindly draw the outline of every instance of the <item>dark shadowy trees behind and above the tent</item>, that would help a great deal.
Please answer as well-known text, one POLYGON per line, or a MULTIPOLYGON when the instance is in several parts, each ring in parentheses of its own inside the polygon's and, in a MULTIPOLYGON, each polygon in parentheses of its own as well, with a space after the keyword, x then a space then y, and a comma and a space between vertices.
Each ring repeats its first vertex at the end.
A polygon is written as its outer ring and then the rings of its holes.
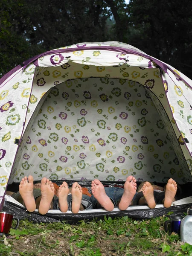
POLYGON ((121 41, 192 78, 192 1, 2 0, 0 75, 50 49, 121 41))

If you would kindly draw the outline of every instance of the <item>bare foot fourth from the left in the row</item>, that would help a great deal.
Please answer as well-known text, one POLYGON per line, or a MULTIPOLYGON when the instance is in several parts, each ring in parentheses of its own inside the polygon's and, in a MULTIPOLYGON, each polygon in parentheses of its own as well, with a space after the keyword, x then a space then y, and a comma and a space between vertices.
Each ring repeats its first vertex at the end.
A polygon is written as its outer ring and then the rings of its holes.
POLYGON ((73 183, 73 186, 71 189, 71 195, 72 195, 71 211, 73 213, 78 213, 81 206, 81 199, 83 195, 83 192, 79 183, 77 182, 73 183))

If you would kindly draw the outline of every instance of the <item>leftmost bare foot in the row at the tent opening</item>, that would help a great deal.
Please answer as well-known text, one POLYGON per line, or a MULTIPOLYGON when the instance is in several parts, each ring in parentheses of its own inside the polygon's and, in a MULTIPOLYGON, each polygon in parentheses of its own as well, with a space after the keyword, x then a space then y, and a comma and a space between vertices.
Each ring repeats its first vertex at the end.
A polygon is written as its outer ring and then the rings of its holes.
POLYGON ((26 209, 29 212, 35 211, 36 204, 35 198, 33 196, 33 177, 31 175, 29 175, 28 180, 26 176, 22 178, 19 185, 19 192, 21 197, 23 198, 26 209))

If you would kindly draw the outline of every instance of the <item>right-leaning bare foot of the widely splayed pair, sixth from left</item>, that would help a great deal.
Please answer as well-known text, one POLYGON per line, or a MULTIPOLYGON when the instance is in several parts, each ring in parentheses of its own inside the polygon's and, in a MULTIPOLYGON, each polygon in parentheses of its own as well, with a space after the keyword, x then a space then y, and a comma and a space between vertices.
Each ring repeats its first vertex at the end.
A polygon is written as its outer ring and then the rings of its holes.
POLYGON ((128 206, 131 204, 131 201, 134 198, 136 190, 137 183, 135 177, 128 176, 125 181, 124 192, 118 206, 120 210, 126 210, 128 208, 128 206))

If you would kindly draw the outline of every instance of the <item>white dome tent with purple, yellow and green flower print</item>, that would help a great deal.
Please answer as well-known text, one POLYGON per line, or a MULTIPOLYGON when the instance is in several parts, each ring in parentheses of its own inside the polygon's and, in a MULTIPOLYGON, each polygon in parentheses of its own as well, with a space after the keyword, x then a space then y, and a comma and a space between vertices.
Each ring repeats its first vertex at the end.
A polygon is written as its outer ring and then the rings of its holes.
POLYGON ((8 184, 29 174, 190 184, 191 101, 189 78, 120 42, 74 44, 23 62, 0 79, 1 207, 12 201, 8 184))

